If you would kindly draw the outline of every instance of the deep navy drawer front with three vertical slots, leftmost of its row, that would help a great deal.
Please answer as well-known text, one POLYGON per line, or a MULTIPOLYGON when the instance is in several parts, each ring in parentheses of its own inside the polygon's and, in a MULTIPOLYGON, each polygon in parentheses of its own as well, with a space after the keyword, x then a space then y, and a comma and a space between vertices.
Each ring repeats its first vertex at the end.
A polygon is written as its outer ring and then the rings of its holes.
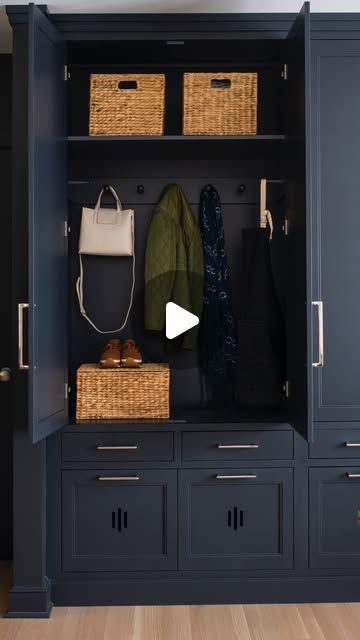
POLYGON ((62 472, 64 571, 177 568, 177 472, 62 472))

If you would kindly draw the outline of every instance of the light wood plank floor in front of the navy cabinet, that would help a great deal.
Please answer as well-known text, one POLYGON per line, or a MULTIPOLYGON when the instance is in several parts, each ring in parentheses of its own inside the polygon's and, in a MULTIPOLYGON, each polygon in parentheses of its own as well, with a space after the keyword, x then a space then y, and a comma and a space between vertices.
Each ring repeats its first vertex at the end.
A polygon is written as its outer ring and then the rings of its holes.
POLYGON ((0 640, 360 640, 360 603, 55 607, 50 620, 7 620, 0 563, 0 640))

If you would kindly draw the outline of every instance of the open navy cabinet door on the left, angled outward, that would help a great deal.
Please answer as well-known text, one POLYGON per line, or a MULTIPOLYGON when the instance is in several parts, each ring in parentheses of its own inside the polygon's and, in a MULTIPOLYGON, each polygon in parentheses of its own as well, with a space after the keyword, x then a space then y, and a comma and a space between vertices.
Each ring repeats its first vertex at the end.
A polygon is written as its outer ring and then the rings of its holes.
POLYGON ((65 45, 34 5, 28 36, 29 425, 37 442, 68 413, 66 83, 65 45))

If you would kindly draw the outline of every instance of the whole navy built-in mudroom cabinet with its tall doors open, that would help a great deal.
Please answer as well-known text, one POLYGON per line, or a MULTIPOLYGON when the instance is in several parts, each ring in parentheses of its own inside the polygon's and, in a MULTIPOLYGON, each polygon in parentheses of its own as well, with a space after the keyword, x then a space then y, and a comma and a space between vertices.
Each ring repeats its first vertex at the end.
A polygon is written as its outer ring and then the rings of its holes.
MULTIPOLYGON (((14 585, 9 616, 52 603, 357 599, 360 14, 72 15, 7 8, 13 28, 14 585), (258 74, 257 133, 182 134, 188 71, 258 74), (163 73, 162 136, 90 136, 91 73, 163 73), (27 113, 28 117, 24 117, 27 113), (221 195, 241 335, 243 231, 260 181, 284 318, 276 397, 214 407, 196 351, 144 330, 154 207, 221 195), (81 208, 104 184, 135 210, 129 323, 171 371, 168 420, 76 421, 76 370, 104 337, 79 312, 81 208)), ((108 201, 110 204, 110 200, 108 201)), ((118 326, 129 262, 87 261, 86 308, 118 326)), ((241 362, 239 362, 241 374, 241 362)))

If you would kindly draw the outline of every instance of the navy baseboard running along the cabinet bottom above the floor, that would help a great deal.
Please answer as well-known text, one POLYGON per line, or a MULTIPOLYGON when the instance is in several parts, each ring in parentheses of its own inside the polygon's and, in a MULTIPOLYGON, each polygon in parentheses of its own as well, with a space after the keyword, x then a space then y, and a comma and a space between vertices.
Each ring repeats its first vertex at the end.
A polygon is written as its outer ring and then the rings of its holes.
POLYGON ((359 593, 360 576, 52 583, 56 606, 347 602, 359 593))

